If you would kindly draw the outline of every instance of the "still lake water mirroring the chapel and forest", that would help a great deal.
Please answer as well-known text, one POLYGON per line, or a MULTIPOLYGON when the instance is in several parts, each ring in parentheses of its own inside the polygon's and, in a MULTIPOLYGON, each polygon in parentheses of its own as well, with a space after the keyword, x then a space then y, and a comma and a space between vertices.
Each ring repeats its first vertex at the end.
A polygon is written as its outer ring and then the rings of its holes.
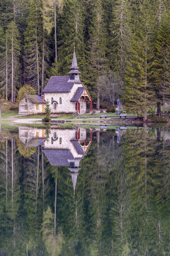
POLYGON ((170 130, 1 126, 0 256, 170 255, 170 130))

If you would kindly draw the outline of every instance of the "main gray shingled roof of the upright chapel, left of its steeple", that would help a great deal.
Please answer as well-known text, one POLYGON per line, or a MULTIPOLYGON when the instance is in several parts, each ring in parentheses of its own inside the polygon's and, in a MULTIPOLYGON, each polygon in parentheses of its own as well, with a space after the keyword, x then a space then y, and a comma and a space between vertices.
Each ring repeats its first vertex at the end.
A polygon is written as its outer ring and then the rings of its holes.
POLYGON ((69 92, 75 81, 69 82, 70 76, 52 76, 44 89, 43 92, 69 92))

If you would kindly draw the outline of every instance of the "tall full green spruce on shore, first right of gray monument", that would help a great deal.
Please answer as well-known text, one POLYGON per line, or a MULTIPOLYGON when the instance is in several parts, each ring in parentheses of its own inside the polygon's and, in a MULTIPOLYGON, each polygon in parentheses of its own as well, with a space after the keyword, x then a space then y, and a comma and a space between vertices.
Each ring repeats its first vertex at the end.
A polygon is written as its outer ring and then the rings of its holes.
POLYGON ((143 122, 147 119, 147 109, 151 107, 153 100, 153 92, 148 80, 151 60, 150 35, 153 29, 150 9, 149 1, 144 0, 138 17, 138 30, 133 36, 131 45, 124 93, 127 111, 143 115, 143 122))

